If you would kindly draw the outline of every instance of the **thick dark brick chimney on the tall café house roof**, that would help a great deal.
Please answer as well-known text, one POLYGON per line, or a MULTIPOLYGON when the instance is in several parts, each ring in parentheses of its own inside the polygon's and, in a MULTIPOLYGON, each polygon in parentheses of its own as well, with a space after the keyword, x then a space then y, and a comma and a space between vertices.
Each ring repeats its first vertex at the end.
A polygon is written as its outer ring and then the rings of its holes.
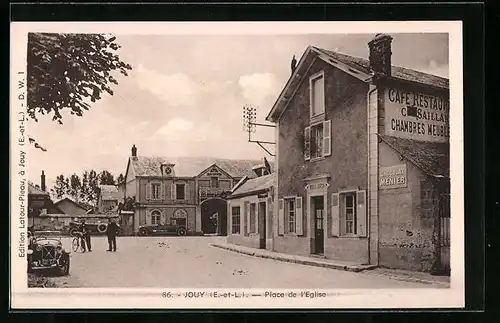
POLYGON ((370 48, 370 69, 376 76, 391 76, 392 37, 376 34, 368 43, 370 48))

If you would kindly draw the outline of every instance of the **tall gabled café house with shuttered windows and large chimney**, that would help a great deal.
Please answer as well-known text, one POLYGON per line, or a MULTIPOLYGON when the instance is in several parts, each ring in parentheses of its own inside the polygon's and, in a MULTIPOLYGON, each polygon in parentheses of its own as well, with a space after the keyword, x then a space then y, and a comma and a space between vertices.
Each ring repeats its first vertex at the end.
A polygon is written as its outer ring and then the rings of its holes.
MULTIPOLYGON (((449 82, 309 46, 276 123, 274 250, 391 268, 449 268, 449 82)), ((396 53, 397 55, 397 53, 396 53)))

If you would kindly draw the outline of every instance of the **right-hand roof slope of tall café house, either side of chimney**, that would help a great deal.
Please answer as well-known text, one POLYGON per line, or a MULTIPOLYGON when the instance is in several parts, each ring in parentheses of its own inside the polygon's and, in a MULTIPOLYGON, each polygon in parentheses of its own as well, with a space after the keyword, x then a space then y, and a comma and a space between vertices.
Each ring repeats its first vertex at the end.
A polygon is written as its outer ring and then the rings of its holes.
MULTIPOLYGON (((340 62, 349 65, 350 67, 360 70, 364 73, 371 74, 370 61, 356 56, 351 56, 339 52, 313 47, 314 49, 324 53, 340 62)), ((409 68, 392 65, 391 78, 396 80, 403 80, 409 82, 420 83, 424 85, 435 86, 443 89, 449 89, 450 84, 447 78, 439 77, 436 75, 415 71, 409 68)))

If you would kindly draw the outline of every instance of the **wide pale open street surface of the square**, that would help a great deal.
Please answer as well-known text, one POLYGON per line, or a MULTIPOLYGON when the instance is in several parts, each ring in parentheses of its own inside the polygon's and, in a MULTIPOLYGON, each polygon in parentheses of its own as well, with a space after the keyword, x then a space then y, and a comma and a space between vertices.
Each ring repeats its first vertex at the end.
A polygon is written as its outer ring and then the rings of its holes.
MULTIPOLYGON (((91 253, 71 253, 61 287, 165 288, 432 288, 368 273, 354 273, 255 258, 210 246, 220 237, 118 237, 106 252, 105 237, 93 237, 91 253)), ((71 238, 64 238, 66 248, 71 238)))

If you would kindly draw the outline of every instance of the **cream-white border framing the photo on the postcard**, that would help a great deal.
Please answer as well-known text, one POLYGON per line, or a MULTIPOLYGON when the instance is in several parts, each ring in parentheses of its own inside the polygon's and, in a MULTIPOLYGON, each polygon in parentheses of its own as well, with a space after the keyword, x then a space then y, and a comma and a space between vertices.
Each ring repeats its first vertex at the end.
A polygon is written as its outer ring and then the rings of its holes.
MULTIPOLYGON (((413 22, 211 22, 211 23, 12 23, 11 24, 11 306, 21 308, 460 308, 464 307, 464 203, 463 203, 463 100, 462 100, 462 23, 460 21, 413 22), (450 79, 450 176, 451 176, 451 287, 448 289, 329 290, 326 298, 162 298, 165 289, 28 289, 24 259, 17 257, 19 235, 18 156, 21 147, 17 112, 17 72, 26 71, 27 32, 110 32, 115 34, 366 34, 448 33, 450 79), (15 158, 13 157, 15 156, 15 158), (368 296, 368 297, 367 297, 368 296)), ((25 102, 24 102, 25 104, 25 102)), ((29 156, 28 156, 29 158, 29 156)), ((28 178, 27 174, 24 176, 28 178)), ((27 196, 26 196, 27 199, 27 196)), ((27 219, 26 219, 27 221, 27 219)), ((213 292, 206 289, 169 290, 170 292, 213 292)), ((238 293, 249 290, 218 289, 238 293)), ((289 290, 273 290, 284 292, 289 290)), ((251 290, 252 293, 265 292, 251 290)), ((240 294, 241 296, 241 294, 240 294)))

